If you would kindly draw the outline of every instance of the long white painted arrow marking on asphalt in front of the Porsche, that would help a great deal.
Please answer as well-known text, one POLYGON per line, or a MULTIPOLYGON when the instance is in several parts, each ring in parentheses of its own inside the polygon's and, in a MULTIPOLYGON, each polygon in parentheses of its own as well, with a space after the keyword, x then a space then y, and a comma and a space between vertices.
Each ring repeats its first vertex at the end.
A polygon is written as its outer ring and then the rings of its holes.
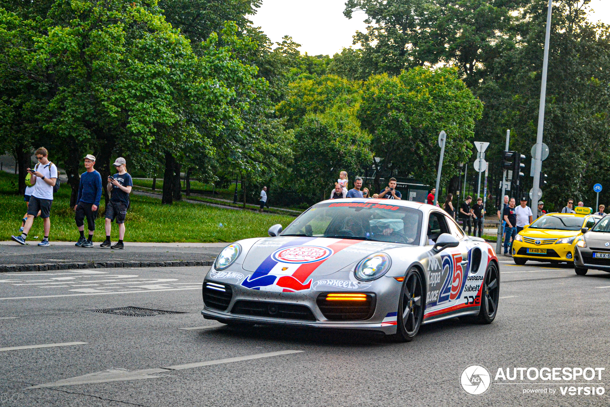
POLYGON ((37 386, 26 387, 26 389, 41 389, 43 387, 74 386, 76 384, 107 383, 109 381, 126 381, 156 379, 164 376, 155 373, 171 372, 173 370, 192 369, 194 367, 210 366, 223 363, 247 361, 251 359, 270 358, 271 356, 289 355, 290 353, 301 353, 302 350, 281 350, 277 352, 259 353, 258 355, 239 356, 238 358, 218 359, 215 361, 188 363, 183 365, 161 367, 156 369, 134 370, 130 372, 126 369, 107 369, 102 372, 88 373, 87 375, 76 376, 68 379, 51 381, 49 383, 37 384, 37 386))

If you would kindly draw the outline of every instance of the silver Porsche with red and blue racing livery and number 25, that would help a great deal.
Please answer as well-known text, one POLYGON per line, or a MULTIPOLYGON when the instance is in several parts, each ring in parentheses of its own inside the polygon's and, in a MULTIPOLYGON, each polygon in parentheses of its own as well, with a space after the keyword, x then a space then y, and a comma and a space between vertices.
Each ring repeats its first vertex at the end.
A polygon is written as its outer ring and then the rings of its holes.
POLYGON ((491 323, 500 273, 493 248, 439 207, 339 199, 270 237, 218 255, 203 283, 206 319, 372 330, 412 340, 425 323, 491 323))

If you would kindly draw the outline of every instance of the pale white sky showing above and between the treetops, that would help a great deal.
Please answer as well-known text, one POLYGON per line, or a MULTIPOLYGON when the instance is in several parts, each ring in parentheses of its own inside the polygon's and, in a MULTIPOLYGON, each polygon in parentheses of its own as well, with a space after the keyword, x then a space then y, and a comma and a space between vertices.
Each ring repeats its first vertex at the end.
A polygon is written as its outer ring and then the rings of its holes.
MULTIPOLYGON (((591 21, 610 24, 610 0, 592 0, 591 21)), ((343 16, 345 0, 264 0, 250 20, 262 27, 271 41, 290 35, 309 55, 326 54, 351 46, 356 31, 365 31, 364 13, 354 13, 351 20, 343 16)))

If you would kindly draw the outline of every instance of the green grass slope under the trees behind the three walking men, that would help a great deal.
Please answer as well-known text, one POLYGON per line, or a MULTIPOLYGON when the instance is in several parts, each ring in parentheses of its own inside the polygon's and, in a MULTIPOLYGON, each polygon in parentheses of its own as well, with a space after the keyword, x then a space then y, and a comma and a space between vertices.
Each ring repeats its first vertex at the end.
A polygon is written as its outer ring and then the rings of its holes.
MULTIPOLYGON (((0 171, 0 240, 10 240, 19 234, 21 217, 26 212, 22 195, 16 195, 16 175, 0 171)), ((93 240, 104 240, 104 200, 95 223, 93 240)), ((267 236, 267 229, 275 223, 284 227, 294 217, 257 214, 251 211, 220 209, 206 205, 177 202, 162 205, 159 199, 148 196, 131 196, 131 209, 127 212, 126 242, 234 242, 248 237, 267 236), (220 223, 222 227, 218 226, 220 223)), ((85 221, 85 234, 87 222, 85 221)), ((43 236, 41 219, 34 226, 27 240, 43 236)), ((74 223, 74 210, 70 207, 70 187, 62 184, 55 194, 51 207, 50 240, 76 241, 78 231, 74 223)), ((112 225, 112 240, 118 240, 118 228, 112 225)))

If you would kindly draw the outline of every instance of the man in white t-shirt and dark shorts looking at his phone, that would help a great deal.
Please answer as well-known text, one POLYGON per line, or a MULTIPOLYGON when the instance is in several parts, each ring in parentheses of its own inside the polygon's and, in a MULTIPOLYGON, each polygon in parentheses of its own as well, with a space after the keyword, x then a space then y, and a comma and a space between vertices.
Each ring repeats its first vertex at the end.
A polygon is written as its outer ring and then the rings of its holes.
POLYGON ((11 236, 10 238, 20 245, 26 244, 26 237, 32 228, 34 217, 40 211, 40 218, 42 218, 45 227, 45 237, 38 243, 38 246, 46 247, 49 246, 49 232, 51 231, 49 216, 51 215, 51 204, 53 203, 53 187, 57 182, 57 167, 49 161, 49 152, 46 148, 38 148, 34 155, 38 159, 38 164, 36 164, 34 170, 27 168, 27 171, 32 176, 30 184, 34 185, 34 192, 32 192, 27 206, 26 224, 23 225, 21 236, 11 236))

